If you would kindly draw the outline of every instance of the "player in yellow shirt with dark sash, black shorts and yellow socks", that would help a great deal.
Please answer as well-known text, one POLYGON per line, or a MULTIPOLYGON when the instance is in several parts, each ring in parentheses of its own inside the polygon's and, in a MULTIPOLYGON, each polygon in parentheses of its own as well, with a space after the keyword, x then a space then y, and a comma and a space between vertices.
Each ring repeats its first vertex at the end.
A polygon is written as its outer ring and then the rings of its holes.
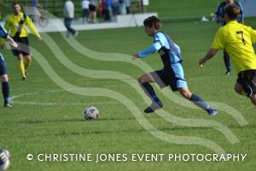
POLYGON ((14 14, 11 14, 5 22, 5 29, 10 32, 10 36, 18 43, 18 48, 13 48, 12 52, 19 61, 19 69, 22 77, 22 81, 26 81, 27 68, 31 66, 32 55, 29 48, 28 31, 26 27, 30 29, 33 35, 41 41, 42 38, 39 35, 36 27, 32 23, 32 20, 21 12, 20 3, 13 3, 14 14), (25 60, 24 60, 25 58, 25 60))

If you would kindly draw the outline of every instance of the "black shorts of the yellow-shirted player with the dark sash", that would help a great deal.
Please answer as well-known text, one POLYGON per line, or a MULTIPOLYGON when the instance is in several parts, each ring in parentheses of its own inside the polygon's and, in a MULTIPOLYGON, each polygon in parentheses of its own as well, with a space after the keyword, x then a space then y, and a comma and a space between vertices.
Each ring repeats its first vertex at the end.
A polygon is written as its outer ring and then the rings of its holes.
POLYGON ((18 48, 12 48, 12 53, 17 56, 19 54, 30 55, 29 42, 27 37, 13 37, 15 42, 18 43, 18 48))

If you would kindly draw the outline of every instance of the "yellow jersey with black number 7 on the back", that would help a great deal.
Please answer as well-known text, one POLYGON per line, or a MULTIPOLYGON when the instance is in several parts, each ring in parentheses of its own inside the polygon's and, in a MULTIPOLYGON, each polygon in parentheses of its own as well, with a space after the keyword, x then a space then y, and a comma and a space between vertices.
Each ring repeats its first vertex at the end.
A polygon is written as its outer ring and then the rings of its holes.
POLYGON ((236 66, 236 71, 256 70, 256 54, 253 49, 256 43, 256 31, 236 20, 228 22, 218 29, 212 48, 224 48, 236 66))

